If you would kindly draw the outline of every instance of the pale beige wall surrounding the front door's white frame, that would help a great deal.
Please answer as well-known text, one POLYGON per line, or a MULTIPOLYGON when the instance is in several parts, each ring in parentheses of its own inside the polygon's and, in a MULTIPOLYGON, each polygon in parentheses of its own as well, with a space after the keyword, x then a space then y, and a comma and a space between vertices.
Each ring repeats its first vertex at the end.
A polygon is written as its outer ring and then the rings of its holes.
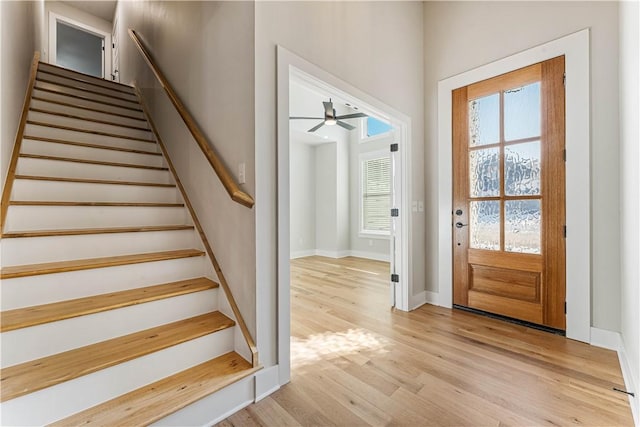
MULTIPOLYGON (((426 241, 431 254, 437 251, 438 230, 438 81, 591 28, 592 325, 619 330, 617 3, 427 2, 424 19, 426 241)), ((428 290, 437 290, 435 260, 426 259, 428 290)))

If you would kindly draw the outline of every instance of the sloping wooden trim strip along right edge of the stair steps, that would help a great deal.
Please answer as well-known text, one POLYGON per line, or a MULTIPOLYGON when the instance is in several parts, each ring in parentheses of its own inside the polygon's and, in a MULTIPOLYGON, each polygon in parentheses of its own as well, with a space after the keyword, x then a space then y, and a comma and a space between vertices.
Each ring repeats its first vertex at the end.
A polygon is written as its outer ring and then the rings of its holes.
POLYGON ((236 300, 233 297, 233 294, 231 293, 231 288, 229 288, 227 279, 224 277, 224 274, 222 273, 222 268, 220 268, 220 264, 218 264, 218 260, 216 259, 216 256, 213 253, 213 249, 209 244, 209 240, 207 240, 207 236, 205 235, 204 230, 202 229, 202 225, 198 220, 196 211, 193 209, 193 205, 189 201, 189 197, 187 197, 187 192, 185 191, 182 185, 182 182, 180 182, 180 178, 178 178, 178 174, 175 168, 173 167, 173 163, 171 162, 171 159, 169 158, 169 152, 167 151, 167 148, 165 147, 164 143, 162 142, 162 139, 160 138, 160 134, 158 133, 158 129, 156 128, 156 125, 153 122, 153 119, 151 119, 151 115, 149 114, 147 105, 144 102, 142 93, 140 92, 140 89, 137 86, 135 86, 135 84, 134 84, 134 89, 136 91, 136 95, 138 96, 138 100, 140 101, 140 105, 142 106, 142 111, 144 112, 144 115, 149 122, 149 127, 151 128, 151 131, 153 132, 153 134, 156 137, 156 140, 158 141, 158 145, 160 146, 160 150, 164 154, 164 158, 167 162, 167 166, 169 167, 169 170, 171 171, 171 174, 173 175, 173 178, 176 181, 176 186, 178 187, 178 190, 180 190, 180 193, 182 194, 182 198, 184 199, 184 204, 189 210, 191 217, 193 218, 193 225, 196 227, 196 230, 198 231, 198 234, 202 239, 202 243, 204 244, 205 251, 207 252, 207 255, 209 255, 211 264, 213 264, 213 269, 215 270, 216 275, 218 276, 218 281, 220 282, 220 286, 224 290, 227 300, 229 301, 229 306, 231 306, 231 310, 233 311, 233 315, 236 318, 236 322, 238 322, 240 331, 242 332, 242 335, 244 336, 247 346, 249 347, 249 351, 251 351, 251 359, 252 359, 251 362, 253 367, 255 368, 258 366, 258 347, 256 346, 255 341, 251 336, 251 333, 249 333, 249 328, 247 328, 247 324, 245 323, 244 318, 242 317, 242 313, 240 313, 238 304, 236 304, 236 300))

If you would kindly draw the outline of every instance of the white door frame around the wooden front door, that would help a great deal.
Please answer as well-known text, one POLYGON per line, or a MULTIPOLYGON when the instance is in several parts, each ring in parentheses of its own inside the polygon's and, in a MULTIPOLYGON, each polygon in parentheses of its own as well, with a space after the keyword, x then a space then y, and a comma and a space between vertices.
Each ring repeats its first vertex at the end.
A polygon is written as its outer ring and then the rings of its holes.
POLYGON ((591 341, 590 30, 483 65, 438 82, 438 305, 452 307, 452 102, 454 89, 565 56, 566 336, 591 341), (570 191, 569 191, 570 189, 570 191))

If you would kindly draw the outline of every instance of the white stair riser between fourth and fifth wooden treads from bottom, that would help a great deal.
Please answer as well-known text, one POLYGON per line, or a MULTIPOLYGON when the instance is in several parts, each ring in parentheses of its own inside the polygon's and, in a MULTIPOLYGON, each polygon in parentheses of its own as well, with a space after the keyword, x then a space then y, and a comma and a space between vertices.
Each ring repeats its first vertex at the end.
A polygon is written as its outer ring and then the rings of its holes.
POLYGON ((193 230, 3 239, 2 265, 38 264, 197 248, 193 230))

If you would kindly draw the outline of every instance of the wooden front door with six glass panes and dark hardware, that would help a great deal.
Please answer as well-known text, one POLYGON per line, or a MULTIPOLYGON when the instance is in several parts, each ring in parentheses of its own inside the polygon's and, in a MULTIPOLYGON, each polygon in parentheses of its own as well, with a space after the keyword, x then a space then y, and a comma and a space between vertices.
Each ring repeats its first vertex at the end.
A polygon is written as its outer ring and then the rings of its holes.
POLYGON ((565 329, 564 56, 453 92, 453 303, 565 329))

